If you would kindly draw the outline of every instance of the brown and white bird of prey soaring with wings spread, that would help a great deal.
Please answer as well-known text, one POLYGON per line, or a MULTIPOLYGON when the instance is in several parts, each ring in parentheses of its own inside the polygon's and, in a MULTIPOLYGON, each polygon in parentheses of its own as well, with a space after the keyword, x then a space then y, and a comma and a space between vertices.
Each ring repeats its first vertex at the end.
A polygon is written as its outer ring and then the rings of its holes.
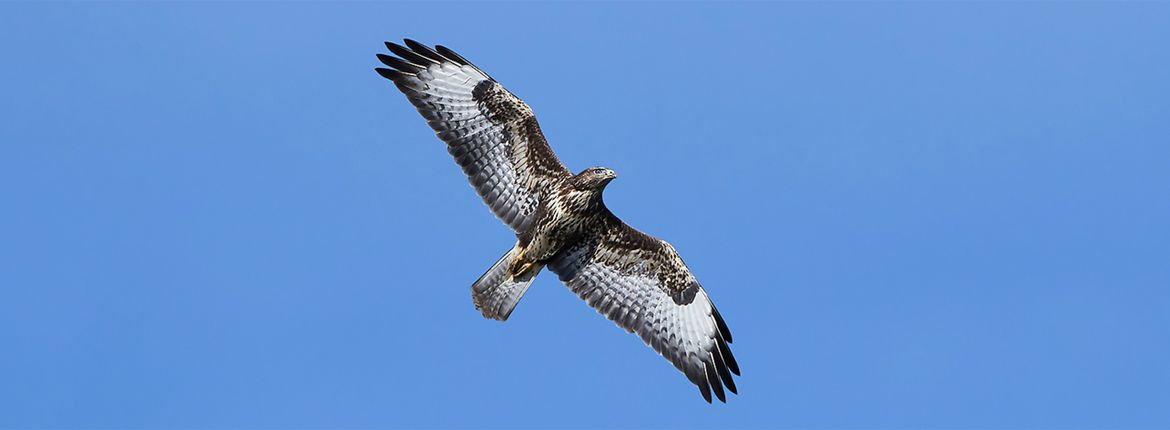
POLYGON ((669 243, 626 226, 601 192, 617 178, 572 174, 541 133, 532 110, 491 76, 442 46, 386 42, 392 81, 447 144, 483 202, 516 244, 473 285, 475 307, 507 320, 543 268, 599 313, 687 375, 708 403, 736 393, 731 332, 669 243))

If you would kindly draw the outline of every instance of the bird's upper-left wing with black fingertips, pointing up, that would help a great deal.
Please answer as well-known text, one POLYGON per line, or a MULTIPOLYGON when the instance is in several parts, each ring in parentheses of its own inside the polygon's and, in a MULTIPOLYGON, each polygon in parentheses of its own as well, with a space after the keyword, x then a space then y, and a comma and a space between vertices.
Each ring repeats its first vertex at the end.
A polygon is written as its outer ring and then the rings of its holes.
POLYGON ((567 178, 541 133, 532 110, 488 74, 442 46, 431 49, 406 40, 386 42, 378 60, 418 108, 468 181, 491 211, 516 233, 523 231, 546 190, 567 178))

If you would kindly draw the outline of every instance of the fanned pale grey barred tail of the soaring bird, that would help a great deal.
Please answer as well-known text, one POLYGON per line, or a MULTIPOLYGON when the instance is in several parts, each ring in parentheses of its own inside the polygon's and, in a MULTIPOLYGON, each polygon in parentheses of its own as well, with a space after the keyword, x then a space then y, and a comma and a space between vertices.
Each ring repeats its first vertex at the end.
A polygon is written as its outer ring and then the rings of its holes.
POLYGON ((544 268, 543 264, 534 264, 523 275, 512 277, 509 271, 519 250, 519 247, 512 247, 491 265, 491 269, 476 279, 475 284, 472 284, 472 300, 483 317, 508 320, 516 304, 524 297, 524 292, 532 285, 532 279, 544 268))

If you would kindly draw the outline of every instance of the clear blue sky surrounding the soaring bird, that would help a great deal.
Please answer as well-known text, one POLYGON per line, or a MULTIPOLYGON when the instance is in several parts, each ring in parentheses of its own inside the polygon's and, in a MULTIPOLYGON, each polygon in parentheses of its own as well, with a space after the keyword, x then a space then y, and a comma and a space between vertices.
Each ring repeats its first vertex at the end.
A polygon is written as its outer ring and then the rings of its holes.
POLYGON ((1170 4, 4 4, 0 426, 1170 428, 1170 4), (384 40, 524 98, 727 318, 512 243, 384 40))

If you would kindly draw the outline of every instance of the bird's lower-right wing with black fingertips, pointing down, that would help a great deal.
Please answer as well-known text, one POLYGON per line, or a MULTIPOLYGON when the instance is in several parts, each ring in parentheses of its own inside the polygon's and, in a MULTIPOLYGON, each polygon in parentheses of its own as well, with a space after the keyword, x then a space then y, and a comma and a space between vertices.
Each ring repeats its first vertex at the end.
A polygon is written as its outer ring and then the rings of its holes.
POLYGON ((598 312, 639 337, 698 386, 727 401, 739 365, 731 332, 674 247, 611 215, 607 226, 560 251, 548 268, 598 312), (722 382, 722 383, 721 383, 722 382))

